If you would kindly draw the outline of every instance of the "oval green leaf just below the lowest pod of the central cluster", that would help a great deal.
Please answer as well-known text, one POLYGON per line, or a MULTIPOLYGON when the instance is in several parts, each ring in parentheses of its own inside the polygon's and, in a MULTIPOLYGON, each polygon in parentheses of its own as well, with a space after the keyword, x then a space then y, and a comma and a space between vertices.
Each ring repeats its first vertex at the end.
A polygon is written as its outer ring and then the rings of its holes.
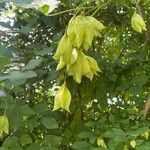
POLYGON ((41 123, 47 129, 57 129, 58 128, 56 120, 54 118, 51 118, 51 117, 42 117, 41 123))

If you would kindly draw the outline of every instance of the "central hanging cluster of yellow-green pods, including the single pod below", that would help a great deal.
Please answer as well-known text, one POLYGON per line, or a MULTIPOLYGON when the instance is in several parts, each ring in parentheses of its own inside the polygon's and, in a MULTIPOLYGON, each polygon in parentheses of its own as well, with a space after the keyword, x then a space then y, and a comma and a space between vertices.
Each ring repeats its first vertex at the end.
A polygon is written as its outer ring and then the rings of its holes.
MULTIPOLYGON (((86 56, 83 50, 89 50, 93 39, 100 36, 104 28, 104 25, 92 16, 73 17, 53 57, 59 61, 56 70, 66 67, 68 75, 77 83, 81 83, 82 76, 92 80, 100 69, 96 60, 86 56)), ((70 102, 71 93, 64 83, 55 96, 54 110, 62 108, 69 112, 70 102)))

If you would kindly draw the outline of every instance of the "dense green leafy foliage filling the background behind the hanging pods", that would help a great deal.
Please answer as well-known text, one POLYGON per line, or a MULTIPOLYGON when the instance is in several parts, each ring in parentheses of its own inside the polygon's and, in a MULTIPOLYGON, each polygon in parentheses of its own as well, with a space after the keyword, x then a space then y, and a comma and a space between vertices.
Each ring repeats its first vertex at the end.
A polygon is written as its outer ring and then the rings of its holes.
POLYGON ((1 149, 150 150, 149 116, 140 121, 150 94, 150 1, 138 5, 148 29, 142 34, 131 28, 137 1, 63 0, 49 15, 23 8, 30 2, 0 1, 0 112, 10 123, 1 149), (106 26, 87 52, 102 72, 81 84, 67 77, 71 113, 52 111, 64 80, 52 56, 78 14, 106 26))

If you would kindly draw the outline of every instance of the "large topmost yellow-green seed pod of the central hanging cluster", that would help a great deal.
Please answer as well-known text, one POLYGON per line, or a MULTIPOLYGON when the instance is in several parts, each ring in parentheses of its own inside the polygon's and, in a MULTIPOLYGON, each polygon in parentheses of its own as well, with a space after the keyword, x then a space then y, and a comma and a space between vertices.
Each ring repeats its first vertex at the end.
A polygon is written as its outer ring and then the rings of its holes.
POLYGON ((69 21, 67 35, 73 47, 88 50, 93 38, 100 36, 99 32, 104 28, 104 25, 94 17, 79 15, 69 21))

